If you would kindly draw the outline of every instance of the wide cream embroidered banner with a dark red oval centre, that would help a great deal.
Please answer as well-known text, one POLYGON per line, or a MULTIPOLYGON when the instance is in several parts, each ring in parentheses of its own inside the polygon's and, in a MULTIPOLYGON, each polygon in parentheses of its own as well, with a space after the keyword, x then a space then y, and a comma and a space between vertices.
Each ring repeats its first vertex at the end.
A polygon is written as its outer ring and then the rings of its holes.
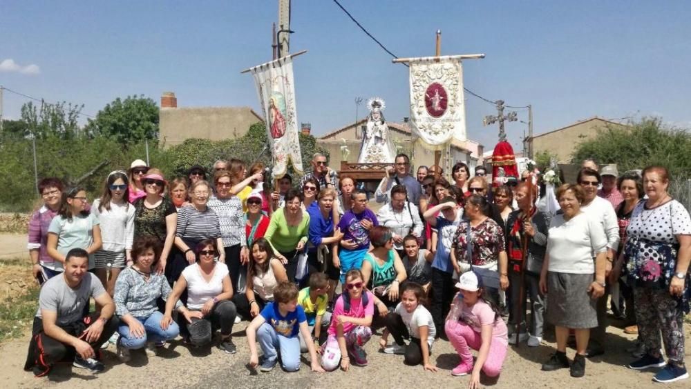
POLYGON ((410 59, 410 126, 425 148, 442 150, 466 140, 463 68, 460 59, 410 59), (439 62, 436 62, 438 60, 439 62))

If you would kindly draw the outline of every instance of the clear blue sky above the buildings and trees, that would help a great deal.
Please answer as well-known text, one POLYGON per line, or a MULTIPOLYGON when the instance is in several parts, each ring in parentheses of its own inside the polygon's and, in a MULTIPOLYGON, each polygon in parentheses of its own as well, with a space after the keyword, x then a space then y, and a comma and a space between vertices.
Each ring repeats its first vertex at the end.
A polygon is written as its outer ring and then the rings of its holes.
MULTIPOLYGON (((464 62, 467 88, 513 106, 533 105, 536 134, 600 117, 663 117, 691 128, 688 1, 341 0, 399 57, 484 53, 464 62)), ((176 92, 178 106, 259 103, 240 70, 271 59, 276 0, 0 1, 0 84, 95 114, 116 97, 176 92), (26 66, 38 66, 27 69, 26 66), (23 70, 23 71, 22 71, 23 70), (37 74, 36 74, 37 73, 37 74)), ((352 123, 356 97, 386 100, 408 116, 408 68, 391 63, 330 0, 293 0, 291 51, 298 119, 323 134, 352 123)), ((5 93, 5 115, 27 100, 5 93)), ((489 103, 466 94, 468 137, 491 148, 489 103)), ((359 117, 366 108, 361 106, 359 117)), ((518 110, 527 121, 525 110, 518 110)), ((509 123, 515 148, 527 125, 509 123)))

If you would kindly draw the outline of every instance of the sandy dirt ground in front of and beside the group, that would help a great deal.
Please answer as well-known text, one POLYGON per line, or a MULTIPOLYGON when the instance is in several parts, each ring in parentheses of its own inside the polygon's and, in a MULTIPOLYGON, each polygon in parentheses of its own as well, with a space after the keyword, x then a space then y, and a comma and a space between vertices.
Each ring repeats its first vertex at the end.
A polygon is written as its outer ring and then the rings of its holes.
MULTIPOLYGON (((0 248, 15 247, 26 250, 23 235, 0 235, 0 248)), ((30 282, 30 276, 21 275, 17 266, 5 265, 0 259, 0 280, 16 280, 8 284, 11 292, 21 283, 30 282)), ((21 266, 28 272, 28 267, 21 266)), ((0 281, 0 286, 3 286, 0 281)), ((616 324, 616 323, 615 323, 616 324)), ((366 345, 369 366, 352 367, 349 372, 317 374, 309 371, 309 364, 303 364, 299 372, 287 373, 280 368, 272 372, 251 372, 247 368, 249 353, 245 338, 246 321, 234 328, 234 341, 238 346, 235 355, 227 355, 216 348, 211 350, 189 350, 180 339, 169 343, 162 355, 148 358, 142 351, 133 352, 129 363, 121 363, 115 357, 115 347, 105 350, 106 371, 91 375, 69 365, 57 366, 48 377, 34 378, 31 372, 22 370, 26 357, 28 332, 16 341, 0 346, 0 382, 4 388, 129 388, 169 387, 184 388, 199 386, 205 388, 446 388, 465 387, 469 377, 453 377, 451 369, 458 363, 458 357, 451 343, 439 340, 433 346, 432 360, 439 367, 438 372, 425 372, 420 366, 405 366, 403 357, 377 352, 379 336, 372 337, 366 345)), ((685 326, 686 339, 691 339, 690 326, 685 326)), ((652 388, 654 370, 637 372, 624 367, 632 359, 624 352, 632 344, 635 335, 626 335, 620 328, 610 326, 607 353, 587 362, 586 376, 574 379, 568 370, 542 372, 540 364, 553 352, 553 337, 548 337, 537 348, 522 344, 520 348, 509 346, 502 374, 498 380, 482 377, 483 386, 491 388, 652 388)), ((390 340, 391 341, 391 340, 390 340)), ((686 351, 687 365, 691 348, 686 351)), ((568 350, 573 358, 574 350, 568 350)), ((309 355, 303 357, 308 358, 309 355)), ((307 359, 304 359, 307 361, 307 359)), ((660 387, 657 384, 656 387, 660 387)), ((689 388, 691 380, 672 383, 665 388, 689 388)))

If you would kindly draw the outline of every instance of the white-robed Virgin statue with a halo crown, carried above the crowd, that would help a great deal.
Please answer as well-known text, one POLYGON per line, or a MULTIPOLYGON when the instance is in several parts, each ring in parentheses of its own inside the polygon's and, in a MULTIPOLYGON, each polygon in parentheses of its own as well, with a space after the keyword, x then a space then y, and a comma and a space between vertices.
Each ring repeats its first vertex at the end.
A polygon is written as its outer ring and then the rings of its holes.
POLYGON ((384 120, 384 100, 372 97, 367 102, 370 114, 367 126, 362 134, 362 146, 358 163, 392 163, 396 156, 396 149, 389 137, 388 126, 384 120))

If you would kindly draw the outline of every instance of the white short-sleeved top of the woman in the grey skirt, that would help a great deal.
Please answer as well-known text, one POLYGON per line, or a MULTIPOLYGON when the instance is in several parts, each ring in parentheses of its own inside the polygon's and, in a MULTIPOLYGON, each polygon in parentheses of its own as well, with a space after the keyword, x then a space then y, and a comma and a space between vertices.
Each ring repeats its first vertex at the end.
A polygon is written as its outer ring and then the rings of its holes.
POLYGON ((564 220, 564 215, 556 215, 549 226, 548 236, 550 272, 593 274, 593 253, 597 255, 607 250, 603 224, 585 212, 568 221, 564 220))

